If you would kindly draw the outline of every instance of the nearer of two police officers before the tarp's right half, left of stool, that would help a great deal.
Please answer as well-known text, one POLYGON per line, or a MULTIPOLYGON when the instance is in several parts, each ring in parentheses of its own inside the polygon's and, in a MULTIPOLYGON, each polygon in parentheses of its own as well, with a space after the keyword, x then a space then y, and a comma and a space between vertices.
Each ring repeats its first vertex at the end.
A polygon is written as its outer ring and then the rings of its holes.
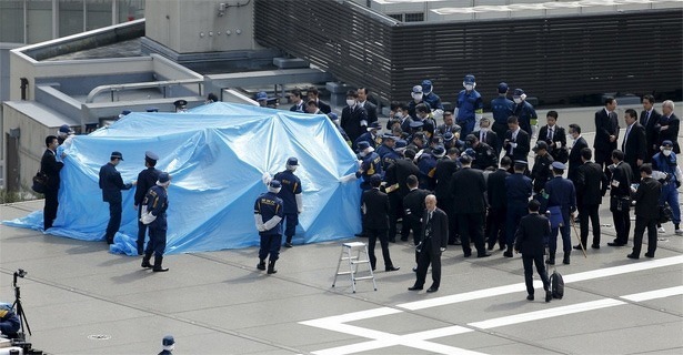
POLYGON ((268 192, 257 199, 253 207, 257 230, 259 230, 259 236, 261 237, 257 268, 265 270, 265 257, 270 254, 268 260, 269 274, 278 272, 275 270, 275 261, 280 257, 280 245, 282 244, 282 217, 284 216, 284 210, 282 199, 278 197, 280 189, 282 189, 280 181, 271 180, 268 184, 268 192))

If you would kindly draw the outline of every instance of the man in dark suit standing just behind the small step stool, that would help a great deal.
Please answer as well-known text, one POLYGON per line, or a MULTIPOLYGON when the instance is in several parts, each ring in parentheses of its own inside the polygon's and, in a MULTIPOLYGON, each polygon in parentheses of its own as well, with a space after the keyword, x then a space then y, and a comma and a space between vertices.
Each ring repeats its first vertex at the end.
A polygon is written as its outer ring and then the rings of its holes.
POLYGON ((368 233, 368 253, 370 254, 370 265, 374 271, 378 258, 374 256, 374 244, 380 239, 382 246, 382 258, 384 258, 385 271, 396 271, 389 255, 389 240, 386 231, 389 230, 389 197, 380 191, 382 176, 374 174, 370 176, 372 189, 364 191, 361 195, 361 205, 363 211, 363 230, 368 233))

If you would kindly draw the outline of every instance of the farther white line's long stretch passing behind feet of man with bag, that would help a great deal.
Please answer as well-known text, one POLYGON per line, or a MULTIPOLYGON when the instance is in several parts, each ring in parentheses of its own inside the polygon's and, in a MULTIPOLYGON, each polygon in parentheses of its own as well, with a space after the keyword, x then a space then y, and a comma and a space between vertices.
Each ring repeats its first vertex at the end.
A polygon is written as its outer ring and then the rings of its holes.
MULTIPOLYGON (((652 260, 652 261, 641 262, 641 263, 631 263, 631 264, 625 264, 621 266, 599 268, 599 270, 587 271, 583 273, 565 275, 563 276, 563 278, 564 278, 564 283, 566 284, 566 283, 572 283, 572 282, 633 273, 633 272, 651 270, 651 268, 656 268, 656 267, 671 266, 671 265, 676 265, 681 263, 683 263, 683 255, 665 257, 665 258, 657 258, 657 260, 652 260)), ((534 282, 534 285, 538 286, 540 284, 536 281, 534 282)), ((449 296, 443 296, 443 297, 429 298, 424 301, 403 303, 403 304, 398 304, 396 307, 405 308, 410 311, 418 311, 418 310, 423 310, 423 308, 443 306, 443 305, 449 305, 453 303, 481 300, 481 298, 486 298, 486 297, 511 294, 515 292, 524 292, 524 291, 525 291, 524 283, 519 283, 519 284, 492 287, 492 288, 486 288, 486 290, 471 291, 471 292, 465 292, 465 293, 460 293, 460 294, 454 294, 454 295, 449 295, 449 296)))

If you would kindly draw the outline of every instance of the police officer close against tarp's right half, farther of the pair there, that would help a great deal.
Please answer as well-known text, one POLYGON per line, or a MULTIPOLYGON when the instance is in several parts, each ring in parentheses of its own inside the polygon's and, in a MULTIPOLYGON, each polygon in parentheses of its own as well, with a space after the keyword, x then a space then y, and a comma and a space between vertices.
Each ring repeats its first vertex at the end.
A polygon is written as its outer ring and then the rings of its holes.
POLYGON ((297 233, 299 225, 299 214, 303 212, 303 200, 301 199, 301 180, 294 175, 294 171, 299 168, 299 160, 294 156, 287 160, 285 170, 279 172, 273 178, 278 180, 282 187, 278 197, 282 199, 284 209, 284 246, 292 247, 292 237, 297 233))

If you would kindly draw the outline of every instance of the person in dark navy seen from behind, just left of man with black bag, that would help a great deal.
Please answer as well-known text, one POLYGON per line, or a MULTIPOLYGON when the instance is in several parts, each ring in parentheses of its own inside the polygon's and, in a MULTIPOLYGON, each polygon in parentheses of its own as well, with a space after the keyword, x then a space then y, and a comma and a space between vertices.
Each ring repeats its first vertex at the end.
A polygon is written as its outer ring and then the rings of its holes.
POLYGON ((508 214, 505 216, 505 244, 508 250, 503 253, 506 257, 512 257, 512 245, 514 243, 514 231, 516 231, 520 220, 526 215, 526 204, 531 197, 531 179, 524 175, 526 162, 514 162, 514 174, 505 178, 505 191, 508 192, 508 214))

